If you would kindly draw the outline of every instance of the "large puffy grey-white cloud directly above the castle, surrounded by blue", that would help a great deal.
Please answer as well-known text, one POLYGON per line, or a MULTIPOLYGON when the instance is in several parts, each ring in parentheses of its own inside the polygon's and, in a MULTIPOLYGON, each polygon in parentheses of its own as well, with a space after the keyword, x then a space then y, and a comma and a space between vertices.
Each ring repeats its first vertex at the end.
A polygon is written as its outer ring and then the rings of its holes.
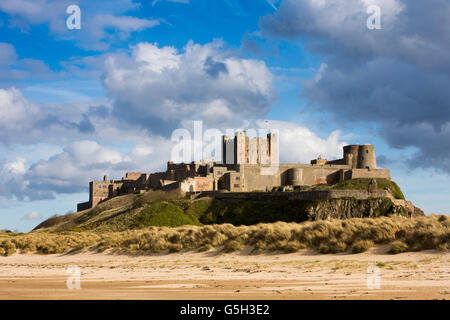
POLYGON ((103 83, 115 99, 115 115, 166 135, 181 119, 223 127, 264 116, 276 98, 271 72, 263 61, 223 47, 221 41, 189 42, 179 52, 139 43, 131 57, 110 57, 103 83))

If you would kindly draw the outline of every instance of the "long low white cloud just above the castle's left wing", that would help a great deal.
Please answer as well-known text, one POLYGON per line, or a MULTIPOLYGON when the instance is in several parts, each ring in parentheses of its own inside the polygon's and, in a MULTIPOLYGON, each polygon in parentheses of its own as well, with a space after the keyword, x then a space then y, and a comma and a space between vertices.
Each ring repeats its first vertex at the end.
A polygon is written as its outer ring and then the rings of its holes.
POLYGON ((127 171, 153 172, 164 168, 170 158, 171 142, 153 138, 140 143, 127 153, 81 140, 70 143, 63 152, 33 163, 22 174, 27 192, 35 190, 54 193, 84 191, 88 182, 103 175, 120 179, 127 171))

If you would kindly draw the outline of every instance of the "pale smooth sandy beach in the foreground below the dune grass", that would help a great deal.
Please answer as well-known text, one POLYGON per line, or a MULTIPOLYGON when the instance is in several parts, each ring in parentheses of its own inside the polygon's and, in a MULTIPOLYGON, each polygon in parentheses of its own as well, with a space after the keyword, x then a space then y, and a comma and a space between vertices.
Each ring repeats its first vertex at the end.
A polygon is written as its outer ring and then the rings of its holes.
POLYGON ((0 257, 0 299, 449 298, 450 255, 436 251, 391 255, 378 247, 327 255, 244 250, 0 257), (67 286, 71 265, 80 270, 79 289, 76 281, 69 281, 72 289, 67 286))

